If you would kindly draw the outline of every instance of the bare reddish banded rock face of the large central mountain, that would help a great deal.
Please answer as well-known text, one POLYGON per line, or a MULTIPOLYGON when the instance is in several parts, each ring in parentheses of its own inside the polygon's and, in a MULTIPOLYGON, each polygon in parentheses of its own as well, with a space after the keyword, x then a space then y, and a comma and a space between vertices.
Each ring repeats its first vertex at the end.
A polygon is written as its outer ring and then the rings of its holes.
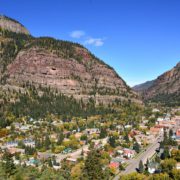
MULTIPOLYGON (((78 52, 79 52, 78 48, 78 52)), ((76 99, 96 99, 96 103, 110 103, 115 99, 131 98, 137 95, 105 64, 91 62, 86 49, 82 62, 76 59, 60 58, 44 49, 30 48, 20 51, 7 68, 7 83, 23 85, 29 82, 36 86, 51 87, 76 99)))

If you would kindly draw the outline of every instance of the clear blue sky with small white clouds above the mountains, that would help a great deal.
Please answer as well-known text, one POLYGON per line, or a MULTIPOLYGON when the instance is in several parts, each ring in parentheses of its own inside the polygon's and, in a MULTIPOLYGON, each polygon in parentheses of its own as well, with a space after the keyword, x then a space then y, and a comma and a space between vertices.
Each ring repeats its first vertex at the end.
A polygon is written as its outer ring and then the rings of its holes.
POLYGON ((0 0, 33 36, 79 42, 130 86, 180 61, 179 0, 0 0))

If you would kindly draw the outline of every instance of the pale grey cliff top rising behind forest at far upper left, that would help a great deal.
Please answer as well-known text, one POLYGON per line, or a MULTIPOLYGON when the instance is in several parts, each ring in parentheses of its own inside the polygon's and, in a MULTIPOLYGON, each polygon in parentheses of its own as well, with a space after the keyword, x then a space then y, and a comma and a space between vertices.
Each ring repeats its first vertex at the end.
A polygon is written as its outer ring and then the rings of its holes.
POLYGON ((0 16, 0 28, 15 33, 29 34, 29 31, 22 24, 6 16, 0 16))

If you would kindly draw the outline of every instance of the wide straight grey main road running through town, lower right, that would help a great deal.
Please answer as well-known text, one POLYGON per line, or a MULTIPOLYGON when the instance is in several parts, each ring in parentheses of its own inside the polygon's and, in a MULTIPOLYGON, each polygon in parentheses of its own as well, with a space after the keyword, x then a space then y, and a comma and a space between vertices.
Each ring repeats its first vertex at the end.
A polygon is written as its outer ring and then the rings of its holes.
POLYGON ((129 165, 126 167, 125 171, 121 172, 120 174, 118 174, 114 180, 118 180, 119 176, 122 174, 129 174, 132 172, 136 172, 136 168, 138 168, 139 166, 139 161, 142 160, 143 163, 146 163, 147 159, 151 158, 156 149, 159 147, 159 141, 162 141, 162 136, 159 136, 156 138, 155 142, 153 144, 151 144, 146 151, 144 151, 142 154, 140 154, 136 159, 132 159, 130 160, 128 163, 129 165))

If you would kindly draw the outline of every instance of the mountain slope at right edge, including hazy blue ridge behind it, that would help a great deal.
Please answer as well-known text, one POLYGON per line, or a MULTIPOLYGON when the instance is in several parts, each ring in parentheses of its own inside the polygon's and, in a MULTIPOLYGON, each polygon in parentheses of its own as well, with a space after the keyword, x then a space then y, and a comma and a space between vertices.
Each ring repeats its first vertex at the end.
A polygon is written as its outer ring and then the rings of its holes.
POLYGON ((134 89, 142 95, 144 100, 180 105, 180 62, 157 79, 136 86, 134 89))

